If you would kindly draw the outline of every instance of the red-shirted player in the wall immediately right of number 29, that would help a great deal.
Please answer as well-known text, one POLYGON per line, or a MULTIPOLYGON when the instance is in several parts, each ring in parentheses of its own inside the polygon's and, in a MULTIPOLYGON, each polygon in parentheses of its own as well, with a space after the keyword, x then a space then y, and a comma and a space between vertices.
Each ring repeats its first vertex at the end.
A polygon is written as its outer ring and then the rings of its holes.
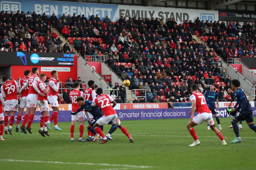
MULTIPOLYGON (((20 79, 19 90, 28 81, 28 78, 31 76, 31 71, 30 70, 25 70, 24 75, 25 75, 25 77, 20 79)), ((20 120, 21 120, 21 117, 23 115, 24 109, 27 106, 28 90, 29 90, 29 87, 26 87, 22 91, 22 93, 20 93, 20 108, 19 108, 19 114, 17 116, 17 126, 16 126, 16 129, 15 129, 15 132, 19 132, 20 120)), ((28 113, 28 110, 26 112, 28 113)))

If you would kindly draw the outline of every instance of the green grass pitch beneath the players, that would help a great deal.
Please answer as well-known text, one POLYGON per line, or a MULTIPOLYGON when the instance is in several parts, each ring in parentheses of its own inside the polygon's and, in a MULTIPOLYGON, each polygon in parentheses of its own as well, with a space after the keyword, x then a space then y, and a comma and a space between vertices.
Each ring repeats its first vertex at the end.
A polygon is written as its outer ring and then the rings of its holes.
MULTIPOLYGON (((214 119, 215 120, 215 119, 214 119)), ((221 146, 220 139, 206 124, 195 127, 201 144, 195 147, 186 125, 189 119, 122 121, 132 138, 117 129, 112 134, 114 141, 78 142, 79 124, 75 127, 75 140, 70 142, 71 122, 59 122, 63 131, 49 131, 51 137, 41 137, 39 123, 33 123, 32 134, 5 135, 0 141, 1 169, 46 170, 46 169, 184 169, 221 170, 255 169, 256 133, 243 122, 240 130, 241 143, 231 144, 235 138, 233 129, 228 129, 232 118, 220 118, 222 135, 228 143, 221 146)), ((104 126, 104 134, 111 126, 104 126)), ((84 138, 87 129, 84 130, 84 138)))

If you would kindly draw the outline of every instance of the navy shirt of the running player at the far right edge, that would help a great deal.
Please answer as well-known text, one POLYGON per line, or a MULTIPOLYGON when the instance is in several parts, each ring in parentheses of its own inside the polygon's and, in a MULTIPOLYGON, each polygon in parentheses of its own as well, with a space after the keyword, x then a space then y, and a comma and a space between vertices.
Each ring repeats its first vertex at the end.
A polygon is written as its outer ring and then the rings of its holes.
POLYGON ((236 111, 240 110, 241 114, 252 112, 251 103, 242 89, 238 88, 236 92, 234 91, 233 96, 236 99, 236 102, 239 104, 236 111))

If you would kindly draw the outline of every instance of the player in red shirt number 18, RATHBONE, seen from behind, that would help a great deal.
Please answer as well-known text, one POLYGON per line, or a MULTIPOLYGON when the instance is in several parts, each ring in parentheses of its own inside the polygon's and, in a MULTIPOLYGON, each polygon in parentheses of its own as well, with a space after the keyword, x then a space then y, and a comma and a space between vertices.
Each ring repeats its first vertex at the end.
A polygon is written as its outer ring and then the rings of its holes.
MULTIPOLYGON (((79 82, 75 82, 74 83, 74 90, 71 91, 69 93, 69 97, 72 103, 72 112, 76 112, 76 110, 79 109, 79 105, 77 104, 76 98, 78 96, 84 96, 84 92, 80 91, 80 84, 79 82)), ((76 125, 76 121, 79 121, 79 132, 80 132, 80 136, 79 136, 79 142, 85 142, 86 140, 84 140, 83 138, 83 134, 84 134, 84 112, 80 111, 78 112, 76 115, 71 115, 71 127, 70 127, 70 135, 71 135, 71 142, 74 142, 74 130, 75 130, 75 125, 76 125)))

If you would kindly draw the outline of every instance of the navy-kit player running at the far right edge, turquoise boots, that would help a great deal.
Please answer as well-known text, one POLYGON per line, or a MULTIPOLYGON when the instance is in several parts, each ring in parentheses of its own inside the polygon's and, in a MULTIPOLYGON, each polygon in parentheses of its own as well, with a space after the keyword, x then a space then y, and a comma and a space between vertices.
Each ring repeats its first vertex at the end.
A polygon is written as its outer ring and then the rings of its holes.
POLYGON ((254 125, 254 121, 252 117, 252 106, 246 94, 242 89, 239 88, 239 86, 240 86, 240 82, 238 80, 234 79, 231 81, 231 87, 232 87, 232 90, 234 91, 233 96, 236 99, 236 102, 238 102, 238 107, 236 107, 236 109, 233 111, 233 115, 234 113, 236 115, 231 121, 233 125, 233 130, 236 134, 236 138, 233 141, 231 141, 231 143, 237 143, 242 141, 239 135, 239 129, 237 126, 237 122, 241 120, 242 121, 245 120, 249 128, 251 128, 254 132, 256 132, 256 126, 254 125))

